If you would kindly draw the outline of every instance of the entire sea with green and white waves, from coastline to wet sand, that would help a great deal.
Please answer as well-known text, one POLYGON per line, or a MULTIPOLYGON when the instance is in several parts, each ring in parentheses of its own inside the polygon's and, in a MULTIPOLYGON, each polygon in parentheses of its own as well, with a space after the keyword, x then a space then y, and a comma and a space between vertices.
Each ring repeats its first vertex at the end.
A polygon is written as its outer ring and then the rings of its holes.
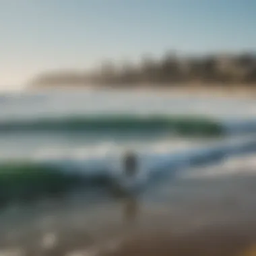
POLYGON ((216 201, 226 177, 236 181, 243 174, 243 184, 253 181, 255 114, 256 100, 244 98, 108 90, 1 94, 0 249, 28 243, 15 233, 17 226, 30 238, 42 227, 86 226, 93 233, 97 225, 100 232, 118 226, 117 202, 105 187, 109 174, 121 170, 126 150, 137 153, 148 177, 138 195, 150 202, 148 209, 154 201, 164 212, 172 201, 181 216, 184 201, 195 201, 195 195, 216 201), (54 192, 60 183, 61 191, 71 189, 64 204, 20 203, 48 183, 54 192))

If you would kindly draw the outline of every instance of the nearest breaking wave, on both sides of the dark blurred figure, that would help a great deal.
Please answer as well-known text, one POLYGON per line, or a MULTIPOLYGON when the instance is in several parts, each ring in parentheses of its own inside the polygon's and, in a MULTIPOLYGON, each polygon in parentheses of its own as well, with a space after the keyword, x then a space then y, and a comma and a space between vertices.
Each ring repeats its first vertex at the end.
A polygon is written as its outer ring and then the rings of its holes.
MULTIPOLYGON (((167 177, 176 177, 191 167, 219 164, 232 156, 255 154, 256 140, 232 141, 218 145, 191 148, 182 152, 138 154, 141 171, 147 179, 141 187, 150 187, 167 177)), ((121 170, 117 156, 70 159, 44 159, 1 162, 0 203, 24 201, 44 196, 62 195, 71 189, 82 187, 107 187, 113 175, 121 170)))

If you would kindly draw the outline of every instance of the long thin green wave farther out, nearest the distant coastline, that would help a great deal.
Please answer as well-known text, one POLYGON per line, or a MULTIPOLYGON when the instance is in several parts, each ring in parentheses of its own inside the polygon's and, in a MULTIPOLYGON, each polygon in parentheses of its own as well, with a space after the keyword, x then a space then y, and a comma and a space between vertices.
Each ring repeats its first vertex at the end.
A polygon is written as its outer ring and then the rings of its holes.
POLYGON ((88 116, 5 121, 0 131, 174 131, 180 134, 220 135, 222 123, 207 117, 187 116, 88 116))

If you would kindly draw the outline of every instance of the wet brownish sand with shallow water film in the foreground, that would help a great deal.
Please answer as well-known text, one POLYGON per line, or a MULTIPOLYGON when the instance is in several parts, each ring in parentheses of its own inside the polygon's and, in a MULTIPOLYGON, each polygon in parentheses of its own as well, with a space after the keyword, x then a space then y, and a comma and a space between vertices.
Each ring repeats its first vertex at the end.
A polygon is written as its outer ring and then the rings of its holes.
POLYGON ((13 207, 1 214, 0 255, 244 255, 256 245, 255 195, 245 170, 166 181, 136 201, 13 207))

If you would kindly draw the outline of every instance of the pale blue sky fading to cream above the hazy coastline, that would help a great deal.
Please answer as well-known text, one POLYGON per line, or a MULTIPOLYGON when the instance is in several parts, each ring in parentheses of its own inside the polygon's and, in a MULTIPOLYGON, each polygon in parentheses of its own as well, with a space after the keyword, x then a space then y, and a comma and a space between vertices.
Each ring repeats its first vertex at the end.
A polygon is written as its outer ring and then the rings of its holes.
POLYGON ((0 0, 0 90, 102 59, 256 51, 255 0, 0 0))

